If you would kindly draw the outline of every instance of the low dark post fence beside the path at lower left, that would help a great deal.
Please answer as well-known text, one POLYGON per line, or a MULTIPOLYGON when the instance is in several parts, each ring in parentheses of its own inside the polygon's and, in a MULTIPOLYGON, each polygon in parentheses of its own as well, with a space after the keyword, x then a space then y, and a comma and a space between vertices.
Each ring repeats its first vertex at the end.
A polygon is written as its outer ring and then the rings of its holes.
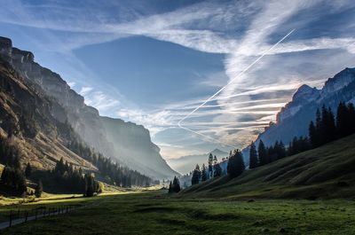
POLYGON ((0 230, 11 227, 15 224, 19 223, 27 223, 31 220, 36 220, 41 217, 47 217, 51 215, 64 215, 68 212, 75 210, 77 208, 82 208, 83 205, 75 204, 75 205, 67 205, 67 206, 59 206, 56 208, 32 208, 29 210, 10 210, 9 220, 8 222, 0 223, 0 230))

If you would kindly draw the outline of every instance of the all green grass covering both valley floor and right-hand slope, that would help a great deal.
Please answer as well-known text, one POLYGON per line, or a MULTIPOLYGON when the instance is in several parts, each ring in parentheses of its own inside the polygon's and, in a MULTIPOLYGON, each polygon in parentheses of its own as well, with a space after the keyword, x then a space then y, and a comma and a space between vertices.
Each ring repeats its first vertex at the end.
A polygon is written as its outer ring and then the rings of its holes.
MULTIPOLYGON (((20 209, 68 203, 91 203, 91 207, 1 232, 16 235, 355 234, 354 153, 355 136, 351 136, 248 170, 235 179, 220 177, 175 195, 162 190, 136 189, 89 199, 19 204, 16 207, 20 209)), ((12 207, 0 207, 0 216, 12 207)))

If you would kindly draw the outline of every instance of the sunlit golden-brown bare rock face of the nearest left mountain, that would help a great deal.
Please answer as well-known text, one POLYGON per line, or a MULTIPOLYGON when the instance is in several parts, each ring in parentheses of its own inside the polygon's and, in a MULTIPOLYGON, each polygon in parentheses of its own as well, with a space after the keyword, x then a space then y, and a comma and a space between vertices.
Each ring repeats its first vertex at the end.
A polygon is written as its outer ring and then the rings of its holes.
MULTIPOLYGON (((31 162, 34 168, 49 169, 63 158, 75 167, 97 170, 67 148, 75 132, 66 122, 52 116, 59 109, 55 100, 29 86, 0 57, 0 137, 21 150, 18 155, 22 163, 31 162)), ((64 109, 61 111, 65 114, 64 109)))

